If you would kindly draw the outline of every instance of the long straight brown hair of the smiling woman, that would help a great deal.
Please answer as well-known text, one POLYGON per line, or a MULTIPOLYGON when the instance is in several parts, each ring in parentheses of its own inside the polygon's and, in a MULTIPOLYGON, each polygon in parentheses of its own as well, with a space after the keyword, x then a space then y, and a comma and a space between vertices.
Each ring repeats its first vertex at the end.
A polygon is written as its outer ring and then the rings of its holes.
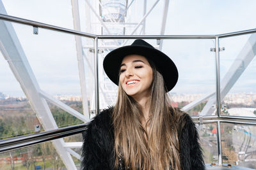
POLYGON ((143 113, 139 104, 125 93, 119 83, 112 115, 115 168, 118 168, 119 159, 122 158, 125 169, 170 169, 171 164, 171 169, 180 170, 177 132, 179 117, 168 101, 163 76, 150 60, 148 62, 153 71, 150 116, 145 128, 149 131, 147 133, 141 125, 140 118, 143 113))

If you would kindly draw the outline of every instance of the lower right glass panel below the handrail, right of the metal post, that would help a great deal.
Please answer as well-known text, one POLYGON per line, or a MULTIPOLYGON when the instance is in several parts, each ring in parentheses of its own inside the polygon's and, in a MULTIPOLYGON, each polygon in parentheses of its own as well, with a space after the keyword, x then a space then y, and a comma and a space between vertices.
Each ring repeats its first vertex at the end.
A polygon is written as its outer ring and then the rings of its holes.
POLYGON ((221 123, 223 162, 256 169, 256 126, 221 123))

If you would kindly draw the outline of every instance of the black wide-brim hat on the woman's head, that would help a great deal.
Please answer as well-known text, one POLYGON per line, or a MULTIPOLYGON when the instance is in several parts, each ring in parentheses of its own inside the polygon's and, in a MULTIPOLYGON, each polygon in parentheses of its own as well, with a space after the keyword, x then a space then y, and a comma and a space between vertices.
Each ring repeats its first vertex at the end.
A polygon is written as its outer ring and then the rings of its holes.
POLYGON ((150 59, 162 74, 168 92, 175 87, 178 81, 178 70, 174 62, 163 52, 154 48, 142 39, 136 39, 132 45, 116 48, 106 55, 103 61, 104 71, 109 79, 118 85, 120 65, 125 56, 137 54, 150 59))

